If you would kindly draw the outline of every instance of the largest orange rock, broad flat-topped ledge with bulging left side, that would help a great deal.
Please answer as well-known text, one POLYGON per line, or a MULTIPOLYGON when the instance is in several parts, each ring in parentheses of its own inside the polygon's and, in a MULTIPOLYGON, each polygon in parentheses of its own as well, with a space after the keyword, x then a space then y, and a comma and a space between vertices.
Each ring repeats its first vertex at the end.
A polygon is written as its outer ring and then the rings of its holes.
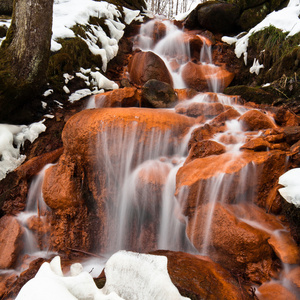
POLYGON ((124 169, 151 158, 150 151, 172 153, 192 124, 172 112, 139 108, 86 110, 72 117, 62 135, 64 154, 47 170, 43 185, 54 211, 52 245, 105 249, 108 231, 116 226, 109 218, 124 169))

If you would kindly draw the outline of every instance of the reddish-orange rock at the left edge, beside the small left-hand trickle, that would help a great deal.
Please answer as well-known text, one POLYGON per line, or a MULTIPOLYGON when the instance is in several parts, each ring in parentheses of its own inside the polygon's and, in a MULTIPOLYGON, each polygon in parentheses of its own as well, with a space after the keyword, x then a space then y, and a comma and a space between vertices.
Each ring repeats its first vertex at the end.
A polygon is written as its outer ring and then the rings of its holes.
POLYGON ((14 266, 23 246, 23 228, 15 217, 0 219, 0 269, 14 266))

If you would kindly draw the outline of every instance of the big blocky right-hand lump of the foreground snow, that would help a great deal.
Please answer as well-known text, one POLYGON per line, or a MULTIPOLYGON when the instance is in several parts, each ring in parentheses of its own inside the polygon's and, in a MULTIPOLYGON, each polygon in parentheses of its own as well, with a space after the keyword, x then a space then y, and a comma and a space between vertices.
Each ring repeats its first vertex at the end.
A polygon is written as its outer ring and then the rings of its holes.
POLYGON ((166 256, 119 251, 106 263, 103 291, 132 300, 188 299, 173 285, 167 262, 166 256))

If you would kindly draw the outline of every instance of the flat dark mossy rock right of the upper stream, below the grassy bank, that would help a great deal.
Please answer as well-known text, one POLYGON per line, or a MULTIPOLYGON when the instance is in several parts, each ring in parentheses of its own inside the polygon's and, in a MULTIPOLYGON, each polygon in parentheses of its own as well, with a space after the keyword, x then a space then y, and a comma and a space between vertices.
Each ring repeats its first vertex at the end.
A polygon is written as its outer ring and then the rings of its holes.
POLYGON ((228 87, 224 90, 224 94, 240 95, 244 100, 257 104, 272 104, 278 97, 276 94, 260 87, 249 87, 246 85, 228 87))

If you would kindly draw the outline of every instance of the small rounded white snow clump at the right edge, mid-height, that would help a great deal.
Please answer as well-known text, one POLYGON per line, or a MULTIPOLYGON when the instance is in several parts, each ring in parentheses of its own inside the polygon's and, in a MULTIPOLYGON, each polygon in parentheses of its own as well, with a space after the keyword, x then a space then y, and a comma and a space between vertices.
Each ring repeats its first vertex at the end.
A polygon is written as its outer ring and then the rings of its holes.
POLYGON ((278 183, 285 186, 278 190, 280 195, 287 202, 300 208, 300 168, 289 170, 281 175, 278 183))

